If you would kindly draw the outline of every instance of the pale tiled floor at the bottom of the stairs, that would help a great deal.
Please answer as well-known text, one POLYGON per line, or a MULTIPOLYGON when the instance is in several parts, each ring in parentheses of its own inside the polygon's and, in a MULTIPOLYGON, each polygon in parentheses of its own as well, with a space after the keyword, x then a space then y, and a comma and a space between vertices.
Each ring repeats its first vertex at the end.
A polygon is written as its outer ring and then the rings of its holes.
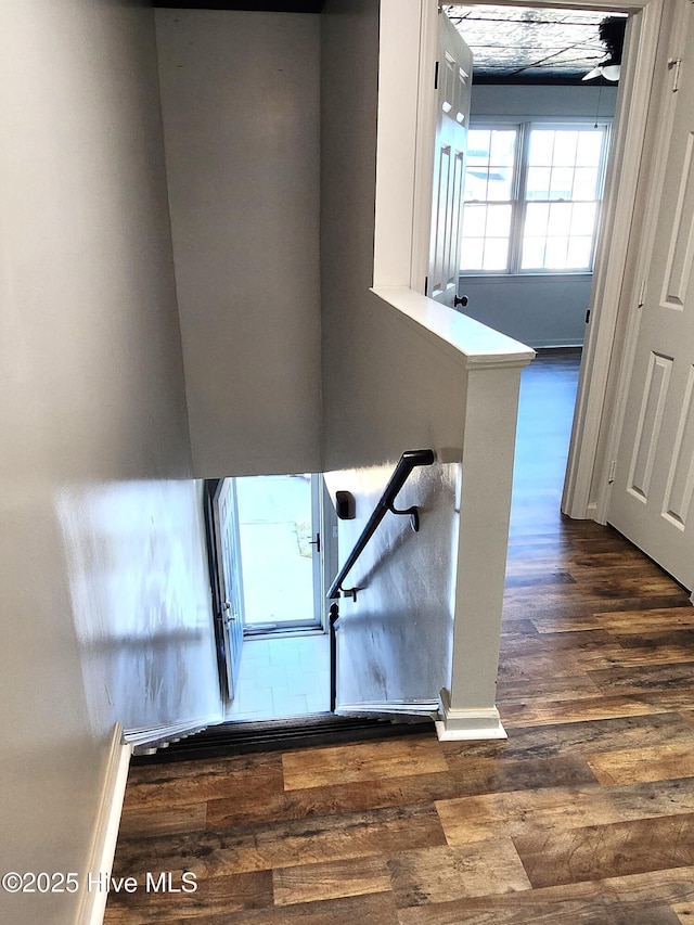
POLYGON ((227 720, 284 719, 330 709, 327 633, 244 640, 227 720))

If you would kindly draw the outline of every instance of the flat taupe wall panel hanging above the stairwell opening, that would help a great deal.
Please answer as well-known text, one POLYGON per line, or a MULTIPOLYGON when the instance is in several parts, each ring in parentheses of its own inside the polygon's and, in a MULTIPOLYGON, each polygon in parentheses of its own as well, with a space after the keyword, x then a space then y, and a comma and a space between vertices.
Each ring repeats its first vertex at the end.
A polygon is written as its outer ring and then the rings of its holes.
POLYGON ((320 16, 156 23, 195 475, 319 471, 320 16))

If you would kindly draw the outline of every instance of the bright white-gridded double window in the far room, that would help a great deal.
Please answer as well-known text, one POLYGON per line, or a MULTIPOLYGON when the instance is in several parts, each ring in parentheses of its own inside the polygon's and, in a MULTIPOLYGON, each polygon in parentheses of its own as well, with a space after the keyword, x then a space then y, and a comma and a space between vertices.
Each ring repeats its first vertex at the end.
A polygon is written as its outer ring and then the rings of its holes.
POLYGON ((590 272, 609 126, 467 134, 461 272, 590 272))

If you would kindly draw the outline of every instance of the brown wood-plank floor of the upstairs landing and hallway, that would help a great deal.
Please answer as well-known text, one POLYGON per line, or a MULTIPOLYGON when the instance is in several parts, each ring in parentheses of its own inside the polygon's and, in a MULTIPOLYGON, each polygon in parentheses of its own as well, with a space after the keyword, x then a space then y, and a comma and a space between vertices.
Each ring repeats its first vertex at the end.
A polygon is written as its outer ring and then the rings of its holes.
POLYGON ((694 609, 614 530, 558 514, 576 371, 540 358, 524 380, 507 742, 133 768, 114 875, 197 890, 112 892, 107 923, 694 922, 694 609))

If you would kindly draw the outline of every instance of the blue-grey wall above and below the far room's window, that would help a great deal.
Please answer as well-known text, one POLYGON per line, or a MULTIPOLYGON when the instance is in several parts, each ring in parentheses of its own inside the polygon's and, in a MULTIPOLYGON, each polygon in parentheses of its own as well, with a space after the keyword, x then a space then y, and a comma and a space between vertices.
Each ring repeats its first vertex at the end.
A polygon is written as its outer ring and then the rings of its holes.
MULTIPOLYGON (((474 85, 471 123, 494 117, 612 118, 616 87, 535 87, 474 85)), ((566 277, 461 275, 465 314, 531 347, 583 343, 591 274, 566 277)))

